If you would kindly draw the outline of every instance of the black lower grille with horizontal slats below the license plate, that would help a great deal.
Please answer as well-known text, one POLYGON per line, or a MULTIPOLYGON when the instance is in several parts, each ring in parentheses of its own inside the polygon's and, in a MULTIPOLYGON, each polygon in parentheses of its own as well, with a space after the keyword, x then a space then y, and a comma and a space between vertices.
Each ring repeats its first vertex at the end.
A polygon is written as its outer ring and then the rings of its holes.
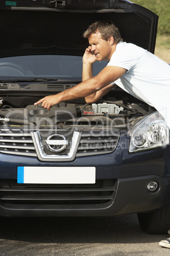
MULTIPOLYGON (((0 201, 4 207, 15 207, 16 204, 68 207, 69 205, 87 205, 106 207, 114 199, 116 180, 96 180, 95 184, 54 185, 54 184, 18 184, 16 181, 0 183, 0 201), (107 205, 106 205, 107 204, 107 205), (12 206, 14 205, 14 206, 12 206)), ((81 206, 80 206, 81 205, 81 206)))

